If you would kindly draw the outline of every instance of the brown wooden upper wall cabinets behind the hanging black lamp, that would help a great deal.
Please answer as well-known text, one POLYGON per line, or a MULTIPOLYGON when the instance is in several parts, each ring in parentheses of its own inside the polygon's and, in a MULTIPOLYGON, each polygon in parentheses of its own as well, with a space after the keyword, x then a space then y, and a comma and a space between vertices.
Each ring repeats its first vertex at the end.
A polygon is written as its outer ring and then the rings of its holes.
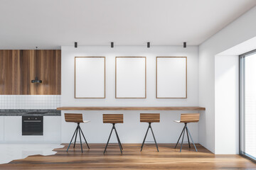
POLYGON ((61 94, 60 50, 0 50, 1 95, 61 94), (42 84, 32 84, 35 77, 42 84))

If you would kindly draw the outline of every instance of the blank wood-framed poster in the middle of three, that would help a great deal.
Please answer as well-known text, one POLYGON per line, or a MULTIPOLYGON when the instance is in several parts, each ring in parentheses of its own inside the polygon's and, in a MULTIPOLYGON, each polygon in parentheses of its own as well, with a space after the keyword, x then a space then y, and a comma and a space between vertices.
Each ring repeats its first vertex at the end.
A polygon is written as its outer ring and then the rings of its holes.
POLYGON ((115 98, 146 98, 146 57, 116 57, 115 98))

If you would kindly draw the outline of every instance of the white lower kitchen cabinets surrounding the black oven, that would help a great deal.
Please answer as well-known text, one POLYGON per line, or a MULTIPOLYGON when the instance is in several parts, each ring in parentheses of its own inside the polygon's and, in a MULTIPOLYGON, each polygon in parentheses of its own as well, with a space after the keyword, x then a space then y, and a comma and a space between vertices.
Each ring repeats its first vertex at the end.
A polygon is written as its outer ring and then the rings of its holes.
POLYGON ((60 116, 44 116, 43 135, 28 136, 22 135, 22 116, 2 117, 4 142, 60 142, 60 116))

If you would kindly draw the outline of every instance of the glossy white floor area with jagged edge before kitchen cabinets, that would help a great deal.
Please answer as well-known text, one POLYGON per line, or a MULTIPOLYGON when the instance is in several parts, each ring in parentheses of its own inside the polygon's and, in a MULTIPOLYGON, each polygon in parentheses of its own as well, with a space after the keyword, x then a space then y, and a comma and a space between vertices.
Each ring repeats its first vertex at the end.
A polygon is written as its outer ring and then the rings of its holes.
POLYGON ((55 154, 53 149, 62 148, 58 143, 0 143, 0 164, 9 163, 15 159, 24 159, 30 155, 55 154))

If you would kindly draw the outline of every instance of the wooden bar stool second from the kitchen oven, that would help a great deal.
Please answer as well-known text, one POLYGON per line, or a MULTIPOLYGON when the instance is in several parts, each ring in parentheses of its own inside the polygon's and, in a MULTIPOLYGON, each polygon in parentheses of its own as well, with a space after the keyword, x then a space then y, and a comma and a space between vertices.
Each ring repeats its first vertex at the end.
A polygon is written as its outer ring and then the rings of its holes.
MULTIPOLYGON (((117 129, 115 128, 115 124, 116 123, 124 123, 124 118, 123 118, 123 114, 103 114, 103 123, 112 123, 112 130, 110 132, 110 137, 112 135, 112 131, 114 130, 116 136, 117 136, 117 142, 118 142, 118 145, 119 145, 119 148, 120 148, 120 152, 122 154, 122 144, 120 142, 120 139, 119 139, 119 136, 117 134, 117 129)), ((107 140, 107 145, 109 144, 110 142, 110 137, 108 138, 107 140)), ((105 150, 104 150, 104 154, 107 150, 107 145, 105 147, 105 150)))

